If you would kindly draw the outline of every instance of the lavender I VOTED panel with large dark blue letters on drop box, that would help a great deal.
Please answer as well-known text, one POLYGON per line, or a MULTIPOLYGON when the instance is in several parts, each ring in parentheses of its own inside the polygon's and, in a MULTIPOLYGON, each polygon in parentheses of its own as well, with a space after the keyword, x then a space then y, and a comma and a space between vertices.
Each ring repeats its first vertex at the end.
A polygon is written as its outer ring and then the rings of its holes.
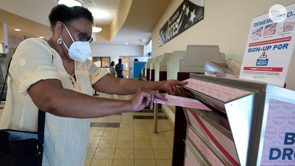
POLYGON ((260 165, 295 165, 295 101, 269 99, 260 165))

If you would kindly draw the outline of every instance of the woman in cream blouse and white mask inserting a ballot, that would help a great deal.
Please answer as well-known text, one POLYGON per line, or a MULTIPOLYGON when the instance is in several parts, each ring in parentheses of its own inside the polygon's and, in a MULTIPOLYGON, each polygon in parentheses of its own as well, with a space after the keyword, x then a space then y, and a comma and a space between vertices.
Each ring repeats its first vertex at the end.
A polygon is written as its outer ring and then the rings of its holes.
POLYGON ((120 79, 87 59, 93 17, 84 7, 57 5, 49 14, 52 36, 22 41, 8 78, 0 128, 37 131, 38 109, 46 112, 43 165, 84 165, 90 119, 153 107, 155 90, 184 93, 176 80, 150 82, 120 79), (98 92, 135 94, 129 101, 92 97, 98 92))

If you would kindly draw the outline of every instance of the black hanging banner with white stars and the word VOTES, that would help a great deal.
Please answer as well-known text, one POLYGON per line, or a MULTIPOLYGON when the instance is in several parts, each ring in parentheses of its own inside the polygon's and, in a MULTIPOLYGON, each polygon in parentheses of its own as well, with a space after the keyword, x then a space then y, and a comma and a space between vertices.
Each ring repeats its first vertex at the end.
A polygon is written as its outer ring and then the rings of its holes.
POLYGON ((204 18, 204 0, 184 0, 160 29, 159 47, 204 18))

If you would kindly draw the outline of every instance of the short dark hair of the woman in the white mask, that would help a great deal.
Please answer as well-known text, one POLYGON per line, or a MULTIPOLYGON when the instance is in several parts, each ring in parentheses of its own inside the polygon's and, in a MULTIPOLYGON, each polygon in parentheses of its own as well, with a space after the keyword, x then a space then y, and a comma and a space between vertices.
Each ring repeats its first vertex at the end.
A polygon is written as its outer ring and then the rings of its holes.
POLYGON ((73 20, 84 18, 93 23, 92 13, 82 6, 69 7, 63 4, 54 6, 48 15, 48 18, 51 31, 53 31, 53 28, 58 21, 64 24, 69 24, 73 20))

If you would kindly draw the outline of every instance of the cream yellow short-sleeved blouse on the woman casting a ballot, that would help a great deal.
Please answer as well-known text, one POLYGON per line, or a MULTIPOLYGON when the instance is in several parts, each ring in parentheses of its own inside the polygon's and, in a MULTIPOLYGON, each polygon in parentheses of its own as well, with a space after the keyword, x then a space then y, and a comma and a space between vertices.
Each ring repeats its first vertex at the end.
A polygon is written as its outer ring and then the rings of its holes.
MULTIPOLYGON (((75 81, 54 49, 40 38, 29 38, 18 45, 9 73, 0 129, 37 132, 38 108, 28 95, 30 85, 39 80, 58 79, 64 88, 92 96, 92 85, 108 71, 99 69, 89 59, 75 61, 75 81)), ((89 129, 90 119, 46 113, 43 165, 84 165, 89 129)))

